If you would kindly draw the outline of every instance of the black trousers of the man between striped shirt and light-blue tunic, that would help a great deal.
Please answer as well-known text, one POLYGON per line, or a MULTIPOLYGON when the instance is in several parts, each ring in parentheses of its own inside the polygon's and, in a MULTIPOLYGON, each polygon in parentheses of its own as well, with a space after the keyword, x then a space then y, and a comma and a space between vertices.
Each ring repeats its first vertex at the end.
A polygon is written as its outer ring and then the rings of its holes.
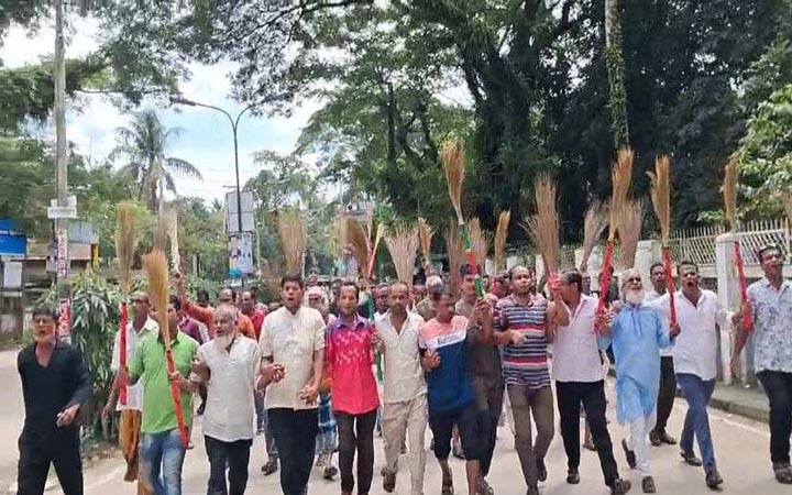
POLYGON ((592 440, 597 448, 600 465, 605 484, 612 486, 618 479, 618 468, 613 454, 610 433, 605 419, 604 382, 556 382, 559 415, 561 416, 561 437, 566 452, 568 466, 578 471, 580 468, 580 407, 586 414, 586 421, 592 432, 592 440))

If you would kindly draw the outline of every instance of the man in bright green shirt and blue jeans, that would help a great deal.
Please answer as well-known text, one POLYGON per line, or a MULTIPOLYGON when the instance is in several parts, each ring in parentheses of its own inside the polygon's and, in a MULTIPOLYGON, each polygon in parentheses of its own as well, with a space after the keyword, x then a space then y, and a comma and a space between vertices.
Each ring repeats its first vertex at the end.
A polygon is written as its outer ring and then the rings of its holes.
MULTIPOLYGON (((170 383, 182 392, 182 410, 188 428, 193 420, 193 393, 197 383, 188 380, 198 342, 178 330, 180 301, 170 298, 167 307, 168 332, 176 372, 168 373, 162 334, 148 334, 135 348, 129 369, 131 384, 143 384, 140 477, 155 495, 182 495, 182 443, 170 383)), ((158 309, 158 308, 157 308, 158 309)))

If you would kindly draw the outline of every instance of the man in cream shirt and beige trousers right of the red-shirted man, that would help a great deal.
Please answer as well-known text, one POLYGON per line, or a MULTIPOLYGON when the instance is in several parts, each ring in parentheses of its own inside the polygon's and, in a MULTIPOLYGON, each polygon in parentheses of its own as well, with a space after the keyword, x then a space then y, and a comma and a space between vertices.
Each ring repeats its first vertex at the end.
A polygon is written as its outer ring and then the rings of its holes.
POLYGON ((424 318, 407 311, 409 287, 394 282, 388 292, 389 310, 376 320, 380 351, 385 358, 383 391, 383 437, 385 438, 385 471, 383 490, 396 487, 398 457, 409 433, 410 495, 424 493, 426 451, 424 438, 427 427, 427 387, 418 350, 418 331, 424 318))

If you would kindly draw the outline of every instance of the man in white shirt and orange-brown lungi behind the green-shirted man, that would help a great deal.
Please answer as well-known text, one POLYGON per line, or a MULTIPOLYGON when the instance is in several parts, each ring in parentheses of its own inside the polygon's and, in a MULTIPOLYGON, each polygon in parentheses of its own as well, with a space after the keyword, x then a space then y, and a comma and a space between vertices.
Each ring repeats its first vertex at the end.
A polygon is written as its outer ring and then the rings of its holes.
MULTIPOLYGON (((156 321, 148 317, 150 305, 148 296, 145 293, 136 292, 130 297, 132 304, 132 321, 127 323, 127 363, 132 361, 135 344, 146 333, 158 333, 160 326, 156 321)), ((127 385, 119 381, 119 370, 121 369, 121 332, 116 333, 113 342, 112 358, 110 362, 110 371, 116 375, 108 403, 102 409, 102 416, 108 417, 113 410, 121 411, 121 427, 119 430, 119 441, 121 451, 127 461, 127 473, 124 481, 133 482, 138 480, 138 448, 141 439, 141 419, 143 415, 143 385, 136 383, 127 385), (127 389, 125 404, 118 404, 119 393, 122 387, 127 389)), ((138 483, 138 495, 147 495, 151 491, 143 483, 138 483)))

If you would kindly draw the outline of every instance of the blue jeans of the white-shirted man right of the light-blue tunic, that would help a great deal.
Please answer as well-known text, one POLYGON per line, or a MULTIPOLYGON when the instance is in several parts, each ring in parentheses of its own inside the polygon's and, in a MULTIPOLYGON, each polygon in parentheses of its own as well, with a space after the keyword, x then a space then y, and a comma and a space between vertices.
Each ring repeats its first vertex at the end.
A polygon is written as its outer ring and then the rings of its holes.
POLYGON ((715 380, 704 381, 696 375, 678 373, 676 383, 682 388, 682 395, 688 400, 688 414, 680 447, 683 452, 693 452, 693 437, 698 441, 698 450, 704 461, 704 471, 715 470, 715 449, 710 433, 710 415, 707 404, 715 389, 715 380))

